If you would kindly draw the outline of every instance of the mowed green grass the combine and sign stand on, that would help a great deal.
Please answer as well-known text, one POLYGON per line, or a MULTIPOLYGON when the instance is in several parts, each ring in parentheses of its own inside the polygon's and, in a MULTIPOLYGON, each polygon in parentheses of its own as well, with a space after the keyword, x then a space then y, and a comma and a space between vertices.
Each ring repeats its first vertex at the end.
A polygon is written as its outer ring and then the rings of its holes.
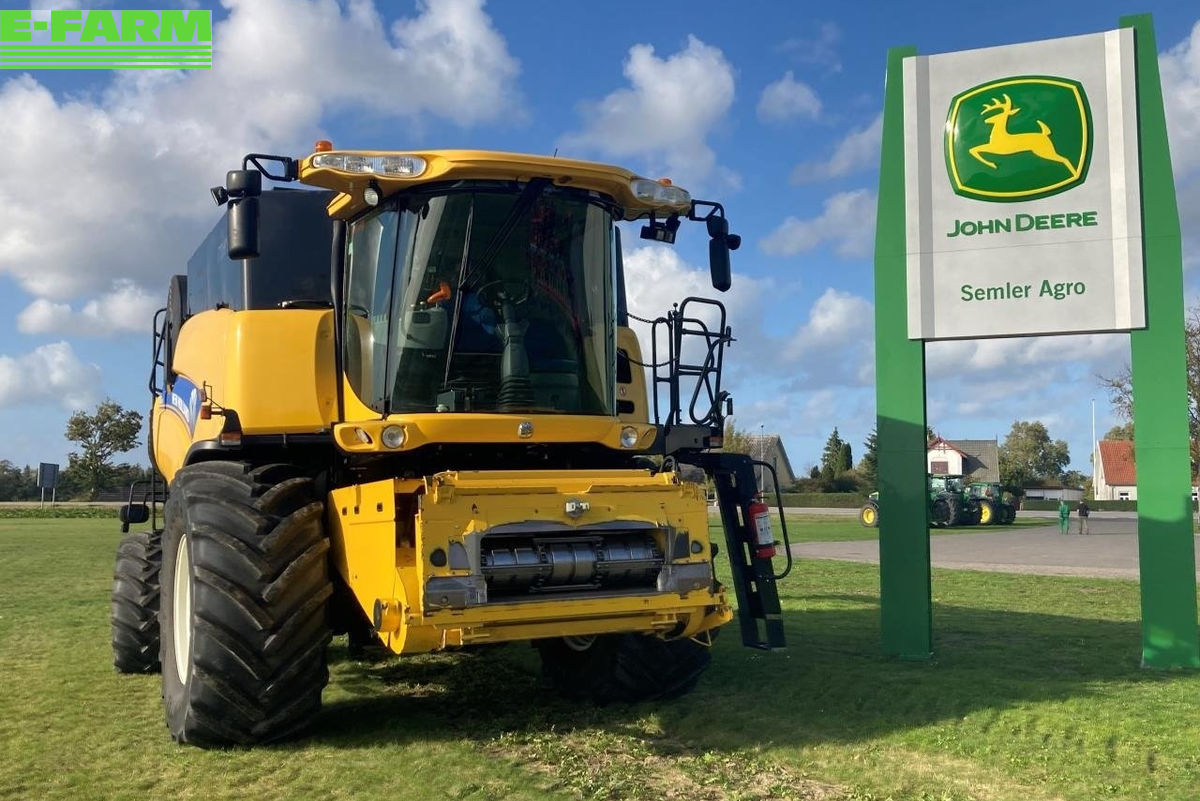
POLYGON ((0 799, 1200 795, 1200 675, 1139 668, 1132 582, 935 571, 937 656, 906 663, 880 655, 872 566, 799 561, 788 650, 727 630, 694 693, 644 706, 553 698, 528 646, 358 661, 335 640, 311 736, 199 751, 170 742, 157 676, 112 669, 118 538, 0 520, 0 799))

